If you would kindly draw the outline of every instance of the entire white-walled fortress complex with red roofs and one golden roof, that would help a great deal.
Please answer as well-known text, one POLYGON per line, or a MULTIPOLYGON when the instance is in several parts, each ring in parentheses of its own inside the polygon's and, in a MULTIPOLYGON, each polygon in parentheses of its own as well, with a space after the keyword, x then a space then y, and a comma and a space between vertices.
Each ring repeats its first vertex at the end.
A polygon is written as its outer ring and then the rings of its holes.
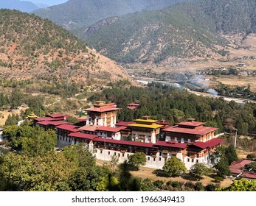
POLYGON ((111 160, 116 155, 120 162, 135 152, 144 152, 145 166, 150 168, 162 168, 170 157, 178 157, 188 169, 195 163, 210 166, 209 154, 224 141, 215 135, 218 128, 206 127, 204 122, 188 119, 170 126, 148 116, 117 122, 119 110, 114 103, 99 101, 86 109, 86 119, 77 118, 77 124, 65 121, 69 116, 59 113, 33 118, 33 122, 55 129, 58 147, 84 143, 97 159, 111 160))

